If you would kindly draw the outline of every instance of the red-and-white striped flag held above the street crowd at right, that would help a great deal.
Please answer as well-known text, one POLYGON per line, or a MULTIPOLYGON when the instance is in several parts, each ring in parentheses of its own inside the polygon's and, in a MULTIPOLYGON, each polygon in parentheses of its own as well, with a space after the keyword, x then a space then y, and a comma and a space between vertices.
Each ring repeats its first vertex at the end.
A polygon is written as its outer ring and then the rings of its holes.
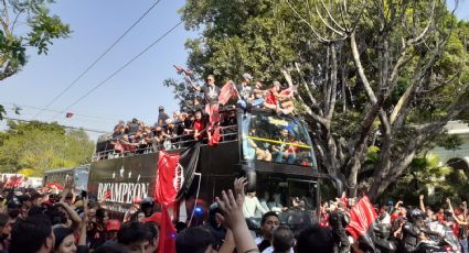
POLYGON ((366 196, 363 196, 349 213, 350 223, 347 226, 347 231, 349 231, 355 240, 366 235, 371 223, 377 218, 376 211, 366 196))

